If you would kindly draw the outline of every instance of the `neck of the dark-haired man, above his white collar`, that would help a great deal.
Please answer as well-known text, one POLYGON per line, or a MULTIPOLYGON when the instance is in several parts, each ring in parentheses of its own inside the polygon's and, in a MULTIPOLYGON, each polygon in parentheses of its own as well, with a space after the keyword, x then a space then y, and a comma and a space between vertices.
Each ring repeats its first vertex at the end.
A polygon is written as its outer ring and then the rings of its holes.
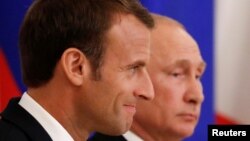
POLYGON ((78 115, 74 112, 73 100, 70 100, 71 97, 65 93, 55 96, 55 93, 41 89, 30 89, 28 93, 65 128, 74 141, 87 140, 90 131, 84 126, 83 120, 78 120, 78 115))

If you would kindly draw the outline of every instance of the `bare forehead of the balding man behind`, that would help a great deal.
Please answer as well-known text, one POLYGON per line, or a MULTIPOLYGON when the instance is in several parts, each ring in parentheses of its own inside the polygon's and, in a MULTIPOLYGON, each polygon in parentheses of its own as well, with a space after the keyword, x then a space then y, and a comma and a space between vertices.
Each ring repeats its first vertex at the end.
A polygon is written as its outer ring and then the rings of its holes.
POLYGON ((177 60, 203 62, 197 43, 179 26, 159 26, 153 31, 151 45, 153 57, 169 63, 177 60))

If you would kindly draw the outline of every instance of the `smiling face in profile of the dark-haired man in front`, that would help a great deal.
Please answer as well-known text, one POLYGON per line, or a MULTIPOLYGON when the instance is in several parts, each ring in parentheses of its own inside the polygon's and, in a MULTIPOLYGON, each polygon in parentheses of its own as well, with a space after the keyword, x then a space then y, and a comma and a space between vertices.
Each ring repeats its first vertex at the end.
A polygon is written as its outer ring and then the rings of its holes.
POLYGON ((88 115, 99 132, 119 135, 133 121, 138 100, 154 96, 146 64, 150 57, 150 31, 132 15, 120 15, 107 33, 101 79, 89 79, 86 92, 93 107, 88 115))

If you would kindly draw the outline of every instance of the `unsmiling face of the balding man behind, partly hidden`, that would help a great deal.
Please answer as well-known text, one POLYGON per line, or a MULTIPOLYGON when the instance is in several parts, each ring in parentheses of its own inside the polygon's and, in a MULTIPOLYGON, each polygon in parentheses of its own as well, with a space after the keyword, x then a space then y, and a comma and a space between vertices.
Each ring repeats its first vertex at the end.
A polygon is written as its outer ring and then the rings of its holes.
POLYGON ((155 98, 138 103, 135 120, 148 132, 183 139, 199 120, 205 63, 196 42, 180 26, 159 24, 151 42, 148 71, 155 98))

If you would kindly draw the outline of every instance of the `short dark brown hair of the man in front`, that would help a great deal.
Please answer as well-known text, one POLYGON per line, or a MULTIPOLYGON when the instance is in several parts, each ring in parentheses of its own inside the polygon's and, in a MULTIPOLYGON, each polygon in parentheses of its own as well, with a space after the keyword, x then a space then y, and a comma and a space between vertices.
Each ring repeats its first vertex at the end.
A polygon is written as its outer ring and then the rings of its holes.
POLYGON ((81 50, 96 73, 105 34, 117 14, 132 14, 147 28, 154 27, 153 18, 137 0, 35 0, 20 29, 24 83, 28 87, 47 83, 70 47, 81 50))

